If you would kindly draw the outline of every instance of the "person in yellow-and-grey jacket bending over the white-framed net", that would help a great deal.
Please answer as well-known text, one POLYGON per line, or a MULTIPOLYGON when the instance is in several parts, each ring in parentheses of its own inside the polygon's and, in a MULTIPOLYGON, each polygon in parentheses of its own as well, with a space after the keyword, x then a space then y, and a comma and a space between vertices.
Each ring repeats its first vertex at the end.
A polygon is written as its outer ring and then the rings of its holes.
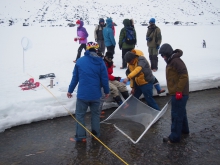
POLYGON ((128 63, 128 75, 123 82, 127 83, 130 80, 131 93, 134 97, 139 99, 143 94, 148 106, 160 110, 153 98, 155 77, 143 52, 137 49, 128 51, 125 54, 125 61, 128 63))

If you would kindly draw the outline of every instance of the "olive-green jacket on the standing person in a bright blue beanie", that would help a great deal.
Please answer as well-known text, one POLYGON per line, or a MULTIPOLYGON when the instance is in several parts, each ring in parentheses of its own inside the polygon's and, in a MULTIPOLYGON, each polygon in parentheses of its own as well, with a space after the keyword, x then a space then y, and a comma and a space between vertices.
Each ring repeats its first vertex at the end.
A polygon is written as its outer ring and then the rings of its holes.
POLYGON ((147 37, 150 37, 151 39, 151 41, 147 41, 148 47, 156 48, 157 46, 160 46, 162 42, 162 35, 160 28, 157 27, 155 24, 152 26, 148 26, 146 38, 147 37))

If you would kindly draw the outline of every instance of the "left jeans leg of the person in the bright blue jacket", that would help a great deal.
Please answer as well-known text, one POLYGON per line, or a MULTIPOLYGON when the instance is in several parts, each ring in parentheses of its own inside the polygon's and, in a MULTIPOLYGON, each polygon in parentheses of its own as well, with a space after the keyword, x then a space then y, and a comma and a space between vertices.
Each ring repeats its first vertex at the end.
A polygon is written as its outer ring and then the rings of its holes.
MULTIPOLYGON (((81 99, 76 100, 76 111, 75 111, 76 120, 80 122, 83 126, 85 126, 85 115, 86 115, 87 109, 88 109, 88 102, 81 100, 81 99)), ((76 122, 75 137, 77 140, 86 138, 85 129, 82 126, 80 126, 77 122, 76 122)))

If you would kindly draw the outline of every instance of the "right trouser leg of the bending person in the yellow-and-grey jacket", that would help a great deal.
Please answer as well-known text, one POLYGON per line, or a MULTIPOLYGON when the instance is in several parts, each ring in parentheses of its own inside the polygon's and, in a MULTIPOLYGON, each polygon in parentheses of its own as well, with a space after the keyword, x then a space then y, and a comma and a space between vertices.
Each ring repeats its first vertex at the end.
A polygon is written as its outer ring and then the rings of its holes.
POLYGON ((160 110, 156 101, 153 98, 153 83, 142 85, 140 86, 140 88, 141 88, 141 91, 143 92, 147 105, 149 105, 150 107, 156 110, 160 110))

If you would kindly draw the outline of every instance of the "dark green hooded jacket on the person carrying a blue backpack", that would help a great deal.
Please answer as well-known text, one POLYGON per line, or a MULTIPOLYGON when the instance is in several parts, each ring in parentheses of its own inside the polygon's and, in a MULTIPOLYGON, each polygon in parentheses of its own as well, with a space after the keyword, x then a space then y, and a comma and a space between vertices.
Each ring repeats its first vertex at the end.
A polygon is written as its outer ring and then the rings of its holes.
MULTIPOLYGON (((122 49, 134 49, 135 48, 135 44, 129 45, 129 44, 126 44, 125 42, 123 42, 123 39, 126 36, 125 28, 131 26, 130 20, 129 19, 124 19, 123 24, 124 24, 124 27, 121 29, 120 35, 119 35, 119 42, 118 42, 119 47, 121 47, 122 49)), ((137 35, 136 35, 135 29, 134 29, 134 33, 135 33, 135 38, 137 40, 137 35)))

